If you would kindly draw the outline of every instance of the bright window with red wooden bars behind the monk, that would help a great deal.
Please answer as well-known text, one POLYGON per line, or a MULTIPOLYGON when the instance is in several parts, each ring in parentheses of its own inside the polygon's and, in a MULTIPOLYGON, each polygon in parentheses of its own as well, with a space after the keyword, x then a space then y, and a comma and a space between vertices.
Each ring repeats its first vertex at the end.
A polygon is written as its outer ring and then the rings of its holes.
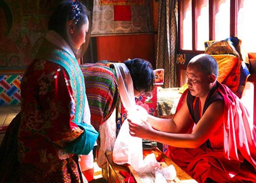
POLYGON ((256 0, 180 0, 178 52, 204 52, 204 41, 237 36, 256 52, 256 0))

